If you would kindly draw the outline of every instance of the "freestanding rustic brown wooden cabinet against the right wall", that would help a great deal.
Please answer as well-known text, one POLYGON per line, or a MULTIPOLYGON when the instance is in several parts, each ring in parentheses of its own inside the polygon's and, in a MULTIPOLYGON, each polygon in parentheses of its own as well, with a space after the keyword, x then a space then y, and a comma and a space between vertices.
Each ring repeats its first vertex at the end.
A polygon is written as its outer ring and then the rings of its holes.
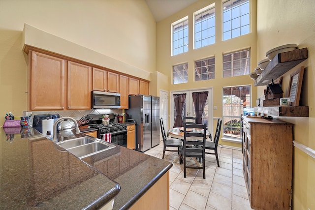
POLYGON ((290 209, 293 124, 243 117, 243 174, 252 209, 290 209))

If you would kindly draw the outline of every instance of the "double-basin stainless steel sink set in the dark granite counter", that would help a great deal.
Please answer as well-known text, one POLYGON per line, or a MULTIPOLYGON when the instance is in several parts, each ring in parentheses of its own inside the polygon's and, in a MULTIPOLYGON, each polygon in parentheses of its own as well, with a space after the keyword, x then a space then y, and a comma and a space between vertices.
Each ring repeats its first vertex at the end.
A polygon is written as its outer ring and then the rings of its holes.
POLYGON ((98 141, 93 137, 70 139, 63 141, 61 144, 58 143, 58 145, 80 159, 115 147, 107 142, 98 141))

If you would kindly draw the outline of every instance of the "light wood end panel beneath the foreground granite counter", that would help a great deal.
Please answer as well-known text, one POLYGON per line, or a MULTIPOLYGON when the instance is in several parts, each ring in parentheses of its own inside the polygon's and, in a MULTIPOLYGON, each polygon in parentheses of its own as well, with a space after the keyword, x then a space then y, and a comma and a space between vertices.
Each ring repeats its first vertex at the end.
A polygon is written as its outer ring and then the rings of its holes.
MULTIPOLYGON (((115 200, 115 199, 114 199, 115 200)), ((169 209, 169 172, 164 174, 130 210, 168 210, 169 209)))

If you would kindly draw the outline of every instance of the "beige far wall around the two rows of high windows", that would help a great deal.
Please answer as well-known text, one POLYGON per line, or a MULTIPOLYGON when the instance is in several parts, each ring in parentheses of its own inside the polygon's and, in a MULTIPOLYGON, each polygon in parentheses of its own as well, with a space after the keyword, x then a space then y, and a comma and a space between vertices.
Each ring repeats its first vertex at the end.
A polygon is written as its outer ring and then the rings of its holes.
MULTIPOLYGON (((224 53, 251 48, 251 71, 254 71, 254 68, 257 66, 256 1, 252 0, 252 33, 226 41, 221 41, 221 10, 221 0, 199 0, 180 12, 159 21, 157 24, 157 71, 170 77, 169 90, 213 87, 213 105, 218 108, 217 110, 213 110, 213 116, 215 118, 222 117, 222 87, 252 85, 252 106, 256 104, 257 99, 257 89, 253 86, 253 80, 249 75, 222 78, 222 54, 224 53), (193 50, 193 12, 212 3, 216 4, 216 43, 193 50), (189 52, 177 56, 170 56, 171 24, 186 16, 189 16, 189 52), (216 78, 207 81, 194 82, 194 61, 211 56, 216 57, 216 78), (189 63, 188 83, 172 85, 172 66, 185 62, 189 63)), ((217 121, 215 120, 213 124, 216 125, 217 121)), ((214 129, 216 129, 215 126, 214 129)), ((221 142, 221 144, 241 147, 240 144, 233 144, 230 142, 221 142)))

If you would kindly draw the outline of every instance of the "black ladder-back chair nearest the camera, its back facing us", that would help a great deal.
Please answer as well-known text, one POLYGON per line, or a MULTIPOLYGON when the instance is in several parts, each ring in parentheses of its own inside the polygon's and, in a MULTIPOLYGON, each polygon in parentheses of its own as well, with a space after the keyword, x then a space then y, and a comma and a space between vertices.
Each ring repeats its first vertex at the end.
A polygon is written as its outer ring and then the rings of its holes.
POLYGON ((179 150, 179 163, 184 164, 184 178, 186 178, 186 168, 202 169, 203 179, 206 179, 205 172, 205 144, 206 144, 206 124, 184 124, 184 141, 179 150), (197 132, 194 128, 203 129, 197 132), (192 130, 191 130, 192 129, 192 130), (202 166, 187 166, 186 157, 194 157, 202 160, 202 166))

